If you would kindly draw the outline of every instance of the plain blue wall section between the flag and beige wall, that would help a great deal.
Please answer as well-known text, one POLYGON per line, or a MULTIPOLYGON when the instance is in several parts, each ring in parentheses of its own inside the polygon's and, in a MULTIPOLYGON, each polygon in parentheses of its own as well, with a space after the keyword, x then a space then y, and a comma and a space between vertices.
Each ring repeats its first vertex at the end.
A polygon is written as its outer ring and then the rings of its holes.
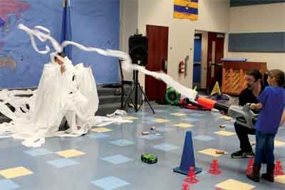
MULTIPOLYGON (((73 41, 85 46, 119 49, 120 0, 73 0, 73 41)), ((118 59, 73 48, 74 63, 92 65, 97 83, 118 83, 118 59)))

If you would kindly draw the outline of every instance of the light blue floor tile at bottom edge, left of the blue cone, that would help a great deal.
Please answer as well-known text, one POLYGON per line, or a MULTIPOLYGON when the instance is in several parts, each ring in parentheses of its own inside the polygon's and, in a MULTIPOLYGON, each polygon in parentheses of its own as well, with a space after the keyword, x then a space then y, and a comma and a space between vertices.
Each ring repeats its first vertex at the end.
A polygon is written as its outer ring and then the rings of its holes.
POLYGON ((116 189, 122 186, 129 185, 128 182, 123 181, 122 179, 118 179, 114 176, 108 176, 103 179, 92 181, 91 184, 95 186, 99 186, 100 188, 105 189, 105 190, 112 190, 112 189, 116 189))

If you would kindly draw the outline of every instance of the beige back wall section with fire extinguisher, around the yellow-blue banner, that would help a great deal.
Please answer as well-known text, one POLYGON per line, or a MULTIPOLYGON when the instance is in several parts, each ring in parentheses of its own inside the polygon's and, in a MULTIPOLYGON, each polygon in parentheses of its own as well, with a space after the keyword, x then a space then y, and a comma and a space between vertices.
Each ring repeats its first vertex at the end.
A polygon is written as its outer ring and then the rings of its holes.
MULTIPOLYGON (((227 33, 229 28, 229 2, 227 0, 200 0, 199 20, 173 19, 173 1, 171 0, 138 0, 138 28, 145 35, 147 24, 168 26, 168 68, 172 78, 187 87, 192 87, 192 60, 194 33, 196 30, 227 33), (179 75, 178 63, 190 56, 187 77, 179 75)), ((140 75, 140 82, 145 78, 140 75)))

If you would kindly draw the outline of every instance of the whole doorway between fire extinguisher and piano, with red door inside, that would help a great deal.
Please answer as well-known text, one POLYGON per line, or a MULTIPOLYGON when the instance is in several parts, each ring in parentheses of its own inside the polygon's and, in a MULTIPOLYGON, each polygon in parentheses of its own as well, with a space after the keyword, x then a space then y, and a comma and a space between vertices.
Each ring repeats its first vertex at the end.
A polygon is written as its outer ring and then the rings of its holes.
POLYGON ((193 55, 193 87, 211 93, 216 82, 222 85, 224 33, 195 31, 193 55))

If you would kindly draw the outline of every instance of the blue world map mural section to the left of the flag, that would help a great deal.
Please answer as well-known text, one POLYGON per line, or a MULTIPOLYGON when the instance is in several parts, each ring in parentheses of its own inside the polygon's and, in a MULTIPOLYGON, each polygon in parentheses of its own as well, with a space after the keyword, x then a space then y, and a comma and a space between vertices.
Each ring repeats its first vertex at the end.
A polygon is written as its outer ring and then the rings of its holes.
MULTIPOLYGON (((0 89, 36 87, 49 55, 36 53, 19 23, 42 25, 58 39, 62 1, 0 0, 0 89)), ((38 43, 39 49, 46 44, 38 43)))

